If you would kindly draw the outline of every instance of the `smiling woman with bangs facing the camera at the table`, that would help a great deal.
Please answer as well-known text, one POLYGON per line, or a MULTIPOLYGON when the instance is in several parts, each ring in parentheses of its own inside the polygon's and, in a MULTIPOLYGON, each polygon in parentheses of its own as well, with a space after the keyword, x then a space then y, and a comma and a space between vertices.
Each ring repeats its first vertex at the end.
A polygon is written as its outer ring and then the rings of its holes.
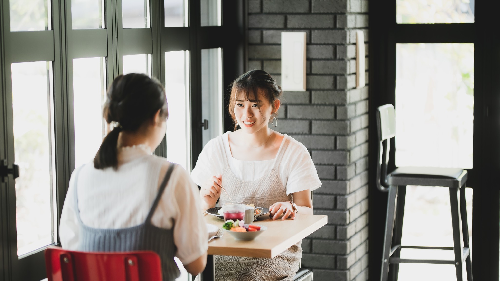
MULTIPOLYGON (((232 83, 228 110, 241 129, 210 140, 191 172, 201 187, 203 209, 219 198, 220 206, 229 202, 222 185, 235 203, 269 208, 273 220, 312 215, 310 192, 321 186, 312 159, 303 144, 268 127, 277 125, 280 95, 276 81, 262 70, 232 83)), ((299 242, 273 259, 215 256, 215 279, 291 281, 301 254, 299 242)))

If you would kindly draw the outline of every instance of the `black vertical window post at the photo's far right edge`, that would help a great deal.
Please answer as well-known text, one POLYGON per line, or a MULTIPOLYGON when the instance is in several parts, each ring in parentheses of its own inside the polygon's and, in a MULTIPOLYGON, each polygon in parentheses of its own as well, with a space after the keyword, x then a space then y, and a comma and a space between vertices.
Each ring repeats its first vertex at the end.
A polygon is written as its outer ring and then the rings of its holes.
POLYGON ((500 230, 500 40, 498 1, 477 1, 474 53, 474 186, 472 272, 475 280, 498 280, 500 230), (496 10, 495 10, 496 9, 496 10), (493 33, 492 33, 493 32, 493 33))

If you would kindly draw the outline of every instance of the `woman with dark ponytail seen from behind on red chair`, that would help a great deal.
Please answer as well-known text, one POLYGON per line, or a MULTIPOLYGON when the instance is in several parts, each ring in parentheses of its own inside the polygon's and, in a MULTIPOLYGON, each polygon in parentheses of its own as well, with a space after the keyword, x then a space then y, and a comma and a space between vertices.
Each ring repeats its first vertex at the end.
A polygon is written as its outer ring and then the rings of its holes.
MULTIPOLYGON (((114 124, 93 163, 76 168, 62 209, 62 248, 87 252, 151 250, 164 281, 180 275, 173 257, 196 275, 206 264, 199 191, 179 165, 151 155, 166 131, 161 84, 144 74, 114 79, 103 107, 114 124)), ((173 137, 173 136, 168 136, 173 137)))

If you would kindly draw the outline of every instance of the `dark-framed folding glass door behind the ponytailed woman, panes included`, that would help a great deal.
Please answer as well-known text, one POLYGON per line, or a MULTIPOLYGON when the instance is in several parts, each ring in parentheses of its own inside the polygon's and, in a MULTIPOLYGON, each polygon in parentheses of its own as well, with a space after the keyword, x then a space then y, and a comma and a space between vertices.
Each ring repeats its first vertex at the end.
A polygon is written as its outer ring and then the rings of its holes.
POLYGON ((0 280, 45 278, 43 250, 58 245, 71 172, 108 132, 102 104, 117 75, 162 83, 170 114, 155 154, 190 171, 227 128, 222 89, 243 70, 242 3, 1 1, 0 280))

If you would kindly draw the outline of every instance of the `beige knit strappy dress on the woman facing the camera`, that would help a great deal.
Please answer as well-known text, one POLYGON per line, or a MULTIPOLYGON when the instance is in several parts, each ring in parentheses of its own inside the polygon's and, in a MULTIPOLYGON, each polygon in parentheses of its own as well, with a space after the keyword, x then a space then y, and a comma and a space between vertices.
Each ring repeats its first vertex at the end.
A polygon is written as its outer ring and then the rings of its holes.
MULTIPOLYGON (((292 201, 292 195, 286 195, 286 188, 281 183, 277 171, 290 142, 288 136, 284 136, 269 173, 254 181, 242 181, 231 172, 227 164, 227 158, 231 157, 231 154, 226 151, 223 139, 220 138, 218 142, 219 148, 225 156, 222 157, 224 161, 222 185, 233 202, 269 208, 276 202, 292 201)), ((219 204, 223 205, 228 202, 229 198, 225 193, 222 193, 219 204)), ((298 270, 298 263, 302 256, 300 244, 301 242, 298 242, 272 259, 215 256, 215 280, 291 281, 298 270)))

